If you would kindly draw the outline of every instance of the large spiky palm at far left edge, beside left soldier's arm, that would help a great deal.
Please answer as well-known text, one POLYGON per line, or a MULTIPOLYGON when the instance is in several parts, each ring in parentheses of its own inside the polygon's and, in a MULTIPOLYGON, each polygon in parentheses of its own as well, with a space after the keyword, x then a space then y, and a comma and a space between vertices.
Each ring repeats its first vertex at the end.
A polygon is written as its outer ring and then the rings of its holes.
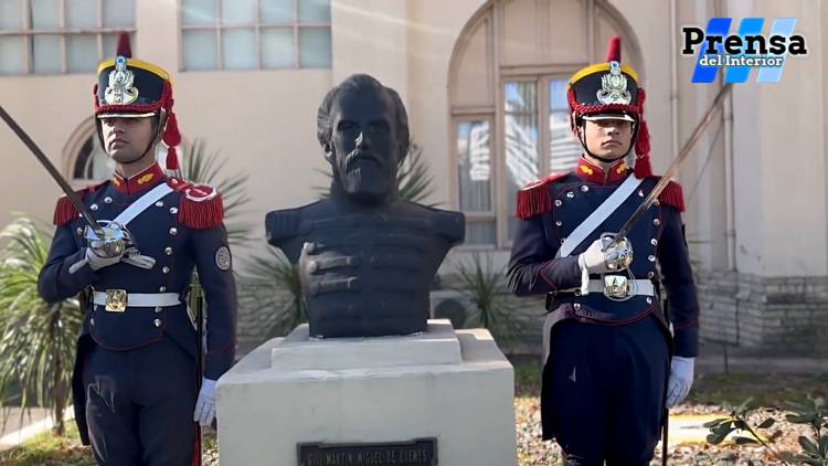
POLYGON ((0 239, 8 242, 0 252, 0 400, 20 390, 21 424, 25 409, 51 407, 63 435, 82 311, 77 299, 47 304, 38 295, 51 243, 42 227, 18 218, 0 239))

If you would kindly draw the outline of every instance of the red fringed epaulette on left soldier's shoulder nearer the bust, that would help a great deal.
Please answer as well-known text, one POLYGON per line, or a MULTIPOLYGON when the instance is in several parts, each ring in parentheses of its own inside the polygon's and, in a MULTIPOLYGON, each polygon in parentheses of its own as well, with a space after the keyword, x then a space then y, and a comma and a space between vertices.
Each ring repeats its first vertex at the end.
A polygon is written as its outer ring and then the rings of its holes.
POLYGON ((212 229, 224 220, 224 203, 215 188, 170 177, 167 184, 181 194, 178 221, 193 230, 212 229))

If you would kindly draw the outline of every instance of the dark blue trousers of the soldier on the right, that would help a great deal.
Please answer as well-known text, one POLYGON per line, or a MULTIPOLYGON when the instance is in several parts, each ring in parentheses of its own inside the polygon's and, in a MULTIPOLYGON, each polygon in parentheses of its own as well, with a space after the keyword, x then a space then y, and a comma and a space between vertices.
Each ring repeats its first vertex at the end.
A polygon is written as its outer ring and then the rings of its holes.
POLYGON ((648 317, 608 327, 565 320, 552 329, 543 373, 544 427, 571 466, 646 466, 662 421, 669 349, 648 317), (550 435, 551 434, 551 435, 550 435))

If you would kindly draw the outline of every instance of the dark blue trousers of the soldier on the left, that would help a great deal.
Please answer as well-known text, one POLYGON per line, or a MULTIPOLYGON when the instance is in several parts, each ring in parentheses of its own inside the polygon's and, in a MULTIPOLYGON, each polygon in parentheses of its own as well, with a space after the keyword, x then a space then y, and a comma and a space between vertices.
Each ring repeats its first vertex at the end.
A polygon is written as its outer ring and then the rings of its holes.
POLYGON ((195 442, 195 361, 178 345, 92 349, 84 367, 95 459, 106 466, 190 466, 195 442))

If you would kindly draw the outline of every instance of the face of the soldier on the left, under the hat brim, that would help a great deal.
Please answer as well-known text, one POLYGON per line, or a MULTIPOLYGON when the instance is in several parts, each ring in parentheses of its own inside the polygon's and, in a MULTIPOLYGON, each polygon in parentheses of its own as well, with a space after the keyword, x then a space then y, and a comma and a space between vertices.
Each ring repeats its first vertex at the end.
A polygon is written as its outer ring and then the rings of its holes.
POLYGON ((100 130, 104 150, 118 163, 131 163, 140 159, 155 136, 151 117, 102 118, 100 130))

